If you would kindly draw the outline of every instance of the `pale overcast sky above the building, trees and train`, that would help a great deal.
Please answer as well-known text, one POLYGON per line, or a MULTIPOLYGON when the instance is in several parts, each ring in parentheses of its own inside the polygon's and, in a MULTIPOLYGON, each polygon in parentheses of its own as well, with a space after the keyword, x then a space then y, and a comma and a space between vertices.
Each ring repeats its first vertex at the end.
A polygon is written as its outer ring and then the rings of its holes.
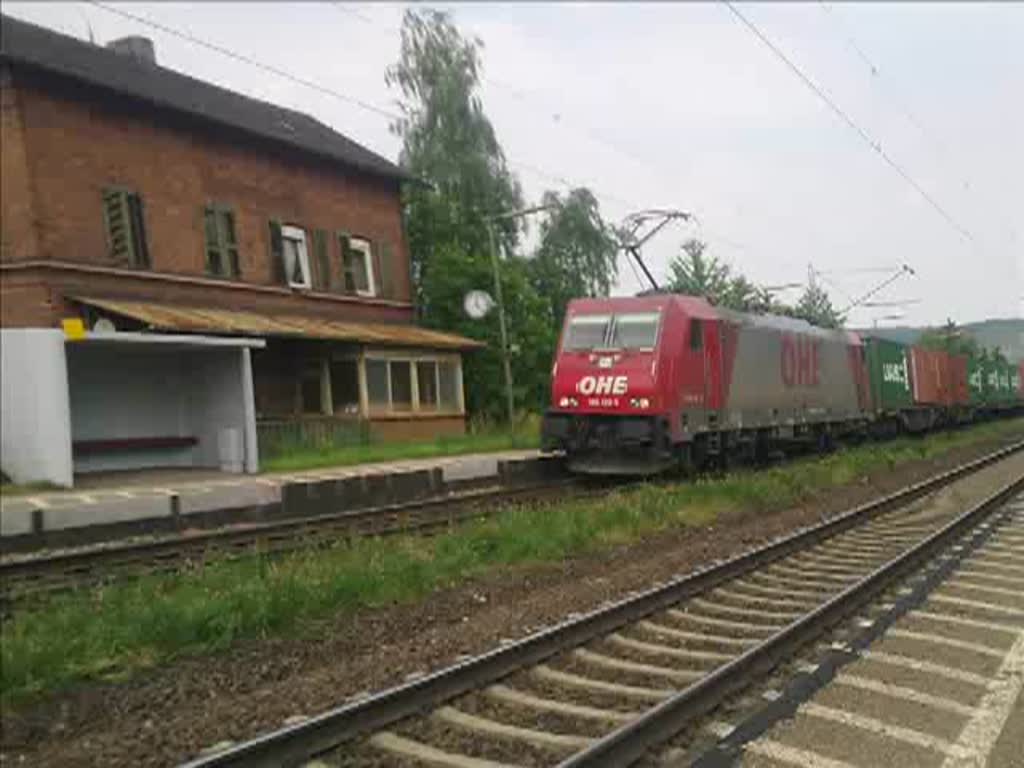
MULTIPOLYGON (((485 108, 528 202, 572 183, 614 221, 649 207, 697 214, 646 249, 656 276, 695 236, 762 285, 804 282, 813 264, 838 306, 886 269, 916 270, 877 297, 916 303, 854 310, 853 325, 1024 316, 1024 3, 737 6, 952 223, 723 4, 435 7, 484 43, 485 108)), ((355 101, 393 111, 384 72, 403 6, 115 8, 351 100, 90 3, 3 3, 76 37, 91 29, 98 43, 144 34, 165 67, 310 113, 397 158, 387 118, 355 101)), ((624 259, 617 292, 639 287, 624 259)))

